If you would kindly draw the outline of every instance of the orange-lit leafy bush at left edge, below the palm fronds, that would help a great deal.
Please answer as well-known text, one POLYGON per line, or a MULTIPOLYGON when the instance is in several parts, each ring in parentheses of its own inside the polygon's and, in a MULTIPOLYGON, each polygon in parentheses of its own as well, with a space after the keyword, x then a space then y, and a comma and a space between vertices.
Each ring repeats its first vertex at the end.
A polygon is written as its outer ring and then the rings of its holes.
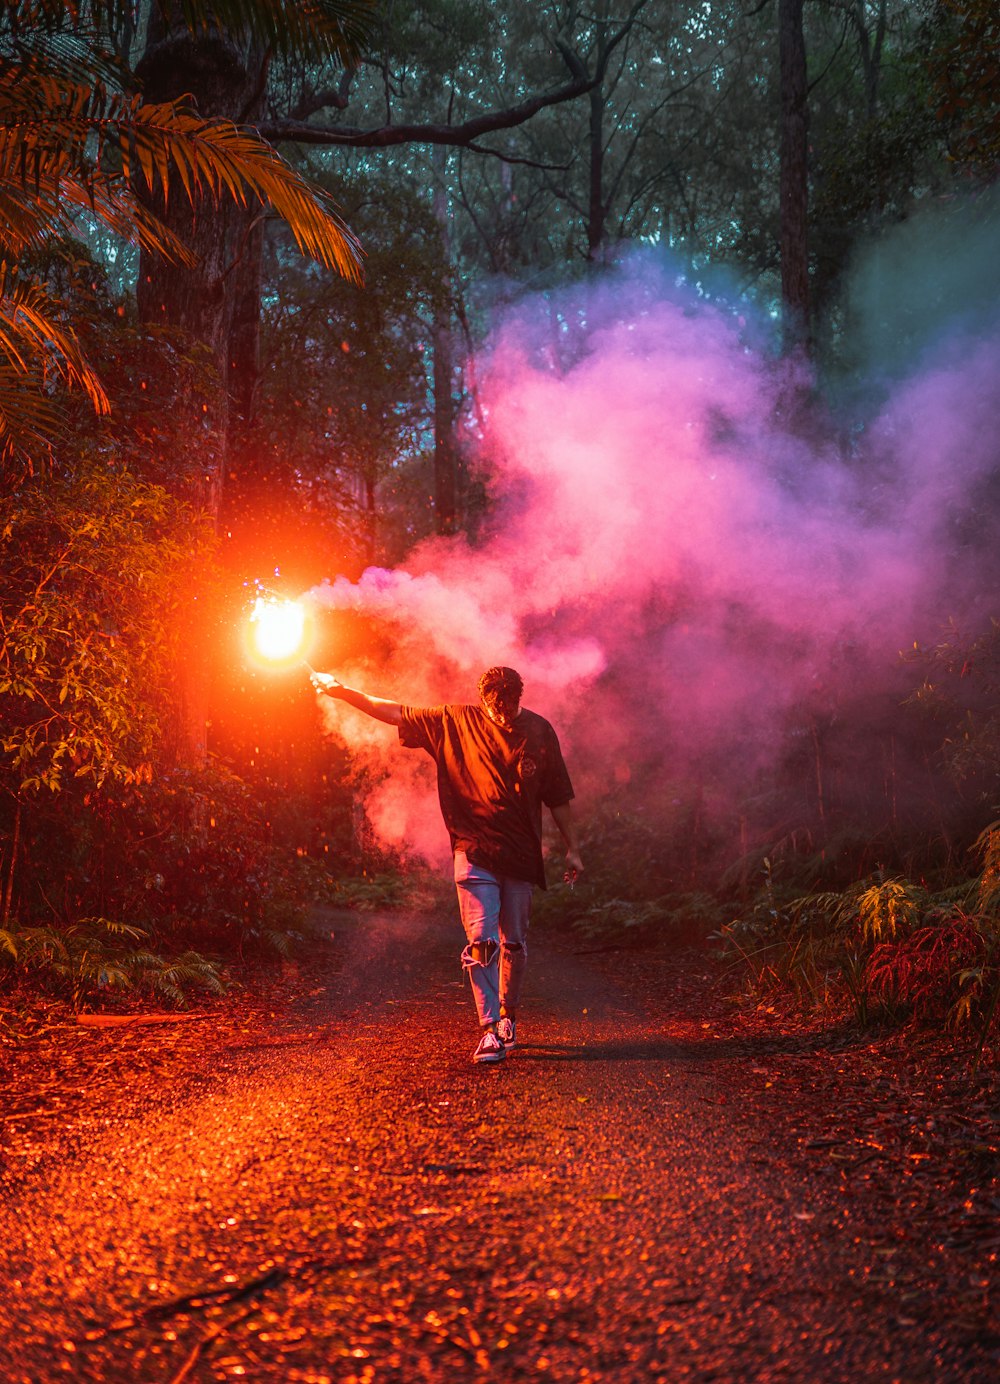
POLYGON ((148 779, 206 551, 166 491, 102 465, 0 493, 1 790, 148 779))

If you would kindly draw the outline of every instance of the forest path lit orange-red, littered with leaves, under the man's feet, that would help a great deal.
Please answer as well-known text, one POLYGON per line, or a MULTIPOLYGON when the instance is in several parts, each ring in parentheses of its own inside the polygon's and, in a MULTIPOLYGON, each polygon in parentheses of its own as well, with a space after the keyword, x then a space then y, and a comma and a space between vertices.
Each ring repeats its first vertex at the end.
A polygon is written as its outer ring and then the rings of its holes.
POLYGON ((337 916, 293 1012, 8 1178, 4 1384, 997 1377, 982 1255, 830 1124, 846 1048, 544 937, 476 1067, 455 933, 337 916))

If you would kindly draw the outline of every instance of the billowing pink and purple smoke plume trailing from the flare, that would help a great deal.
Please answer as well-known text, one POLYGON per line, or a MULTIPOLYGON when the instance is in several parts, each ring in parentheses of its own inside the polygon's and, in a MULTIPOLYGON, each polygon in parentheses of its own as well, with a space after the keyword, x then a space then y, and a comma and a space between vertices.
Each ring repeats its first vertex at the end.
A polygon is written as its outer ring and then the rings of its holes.
MULTIPOLYGON (((484 667, 519 668, 584 817, 609 796, 650 812, 697 797, 763 839, 838 793, 876 822, 898 811, 884 718, 917 681, 899 655, 981 603, 996 512, 997 314, 959 291, 986 242, 974 226, 961 252, 952 226, 942 285, 939 237, 907 226, 900 253, 859 264, 837 408, 746 304, 651 255, 508 311, 477 363, 488 531, 314 588, 379 621, 390 650, 337 675, 420 704, 474 700, 484 667), (936 314, 907 309, 917 273, 936 314)), ((425 757, 324 706, 390 771, 369 804, 383 840, 440 855, 425 757)))

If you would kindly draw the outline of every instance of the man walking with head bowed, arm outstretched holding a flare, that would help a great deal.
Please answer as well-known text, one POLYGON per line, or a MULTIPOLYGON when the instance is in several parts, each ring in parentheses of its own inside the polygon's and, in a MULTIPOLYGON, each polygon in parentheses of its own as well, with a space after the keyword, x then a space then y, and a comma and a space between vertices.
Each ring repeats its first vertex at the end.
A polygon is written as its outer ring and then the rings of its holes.
POLYGON ((329 673, 314 673, 313 685, 398 727, 402 745, 434 760, 466 936, 462 965, 481 1030, 472 1060, 502 1062, 517 1041, 531 893, 535 884, 545 889, 542 804, 566 843, 566 879, 584 868, 556 732, 521 709, 524 684, 513 668, 487 668, 477 706, 402 706, 346 688, 329 673))

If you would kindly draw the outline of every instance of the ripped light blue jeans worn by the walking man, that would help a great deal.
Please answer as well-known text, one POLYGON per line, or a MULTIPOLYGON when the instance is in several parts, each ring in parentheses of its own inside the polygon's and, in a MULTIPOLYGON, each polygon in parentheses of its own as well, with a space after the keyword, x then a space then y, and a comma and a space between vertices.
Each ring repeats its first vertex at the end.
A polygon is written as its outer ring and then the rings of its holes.
POLYGON ((462 966, 472 983, 483 1028, 495 1024, 501 1006, 516 1013, 528 963, 528 918, 534 886, 524 879, 494 875, 455 851, 455 889, 466 948, 462 966), (483 959, 473 955, 473 944, 483 959))

